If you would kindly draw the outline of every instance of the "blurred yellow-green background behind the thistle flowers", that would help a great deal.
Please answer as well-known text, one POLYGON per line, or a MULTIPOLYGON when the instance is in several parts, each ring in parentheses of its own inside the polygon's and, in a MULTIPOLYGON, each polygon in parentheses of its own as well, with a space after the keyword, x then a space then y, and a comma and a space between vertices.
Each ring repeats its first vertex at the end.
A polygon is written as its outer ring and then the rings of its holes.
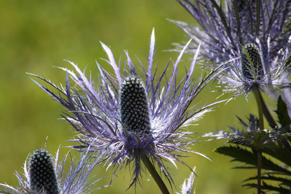
MULTIPOLYGON (((115 59, 119 60, 124 49, 137 64, 135 55, 146 62, 142 51, 148 52, 148 40, 152 28, 156 32, 156 45, 159 47, 155 62, 160 67, 178 53, 163 52, 171 49, 171 43, 188 41, 174 24, 166 18, 187 21, 194 19, 175 0, 0 0, 0 183, 17 186, 15 171, 22 172, 22 165, 30 152, 44 147, 48 136, 47 149, 54 155, 60 144, 74 135, 71 126, 60 118, 63 108, 49 99, 25 72, 34 73, 54 81, 65 82, 65 72, 52 66, 70 67, 63 61, 67 59, 78 63, 81 69, 87 67, 97 81, 98 70, 95 60, 107 65, 100 58, 106 58, 99 41, 111 46, 115 59)), ((123 54, 124 56, 124 54, 123 54)), ((188 56, 191 57, 191 56, 188 56)), ((182 65, 180 73, 184 73, 182 65)), ((212 92, 214 82, 197 97, 195 102, 211 103, 220 95, 212 92)), ((224 96, 224 99, 230 96, 224 96)), ((273 102, 275 104, 275 102, 273 102)), ((238 97, 226 105, 221 104, 214 112, 190 128, 198 134, 238 126, 235 114, 245 117, 256 113, 253 97, 248 102, 238 97)), ((255 175, 255 170, 242 171, 231 169, 235 163, 212 150, 222 146, 225 141, 201 142, 193 149, 206 154, 212 162, 198 155, 185 159, 191 167, 196 166, 196 194, 246 194, 252 190, 242 188, 242 180, 255 175)), ((67 148, 62 148, 65 154, 67 148)), ((171 164, 169 164, 171 165, 171 164)), ((178 170, 171 165, 176 187, 179 190, 190 170, 178 164, 178 170)), ((109 184, 113 169, 107 172, 99 166, 95 169, 96 178, 106 176, 97 186, 109 184)), ((144 174, 143 190, 137 193, 160 193, 153 179, 144 174)), ((110 188, 95 193, 123 193, 130 183, 128 169, 116 173, 110 188)), ((127 194, 134 194, 129 189, 127 194)))

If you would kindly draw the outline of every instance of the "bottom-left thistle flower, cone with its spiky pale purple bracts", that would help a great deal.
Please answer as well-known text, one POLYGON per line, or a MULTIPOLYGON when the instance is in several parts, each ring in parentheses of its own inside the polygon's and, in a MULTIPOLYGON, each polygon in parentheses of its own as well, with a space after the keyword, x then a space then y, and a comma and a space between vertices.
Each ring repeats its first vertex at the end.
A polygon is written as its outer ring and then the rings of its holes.
POLYGON ((59 150, 54 162, 49 152, 43 148, 35 150, 30 157, 29 169, 27 168, 28 158, 24 162, 24 178, 16 172, 20 186, 14 188, 7 184, 0 184, 0 194, 91 194, 90 187, 97 181, 89 183, 88 178, 93 168, 97 165, 99 158, 92 156, 89 148, 81 153, 80 160, 75 154, 71 158, 68 152, 62 161, 59 161, 59 150), (64 166, 70 160, 69 169, 64 166), (54 163, 56 165, 54 165, 54 163))

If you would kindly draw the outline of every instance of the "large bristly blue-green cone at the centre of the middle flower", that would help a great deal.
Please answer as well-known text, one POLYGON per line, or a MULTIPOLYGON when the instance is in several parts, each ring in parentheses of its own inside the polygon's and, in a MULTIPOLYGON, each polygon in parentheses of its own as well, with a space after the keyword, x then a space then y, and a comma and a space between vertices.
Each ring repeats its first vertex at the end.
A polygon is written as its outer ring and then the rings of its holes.
POLYGON ((137 76, 129 76, 122 81, 119 89, 122 123, 130 132, 149 134, 151 127, 144 82, 137 76))

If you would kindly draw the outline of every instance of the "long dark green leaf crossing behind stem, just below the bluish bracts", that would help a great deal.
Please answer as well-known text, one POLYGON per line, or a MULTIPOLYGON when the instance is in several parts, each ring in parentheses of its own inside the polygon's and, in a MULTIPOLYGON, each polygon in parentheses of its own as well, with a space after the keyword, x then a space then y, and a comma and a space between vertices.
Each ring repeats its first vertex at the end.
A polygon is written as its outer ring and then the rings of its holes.
MULTIPOLYGON (((257 153, 254 150, 253 152, 251 152, 239 146, 223 146, 216 148, 214 151, 234 158, 233 160, 231 160, 231 162, 245 162, 247 164, 257 166, 257 153)), ((278 171, 287 175, 291 174, 290 171, 280 167, 279 165, 268 160, 264 156, 262 156, 262 169, 278 171)))

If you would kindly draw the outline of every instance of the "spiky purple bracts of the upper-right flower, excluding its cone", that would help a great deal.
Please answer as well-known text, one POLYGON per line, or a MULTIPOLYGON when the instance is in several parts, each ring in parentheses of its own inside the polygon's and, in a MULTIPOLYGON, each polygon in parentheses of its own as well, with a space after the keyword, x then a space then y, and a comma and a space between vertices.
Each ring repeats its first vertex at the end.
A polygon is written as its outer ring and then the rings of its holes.
MULTIPOLYGON (((224 92, 247 96, 256 84, 268 93, 290 85, 291 75, 291 2, 289 0, 178 0, 200 27, 172 21, 194 40, 187 50, 194 53, 201 44, 201 59, 215 64, 243 55, 242 45, 254 44, 262 57, 263 76, 254 81, 243 75, 241 60, 229 67, 217 80, 224 92), (220 1, 222 2, 222 1, 220 1)), ((181 46, 177 45, 177 48, 181 46)), ((175 49, 174 49, 175 50, 175 49)))

